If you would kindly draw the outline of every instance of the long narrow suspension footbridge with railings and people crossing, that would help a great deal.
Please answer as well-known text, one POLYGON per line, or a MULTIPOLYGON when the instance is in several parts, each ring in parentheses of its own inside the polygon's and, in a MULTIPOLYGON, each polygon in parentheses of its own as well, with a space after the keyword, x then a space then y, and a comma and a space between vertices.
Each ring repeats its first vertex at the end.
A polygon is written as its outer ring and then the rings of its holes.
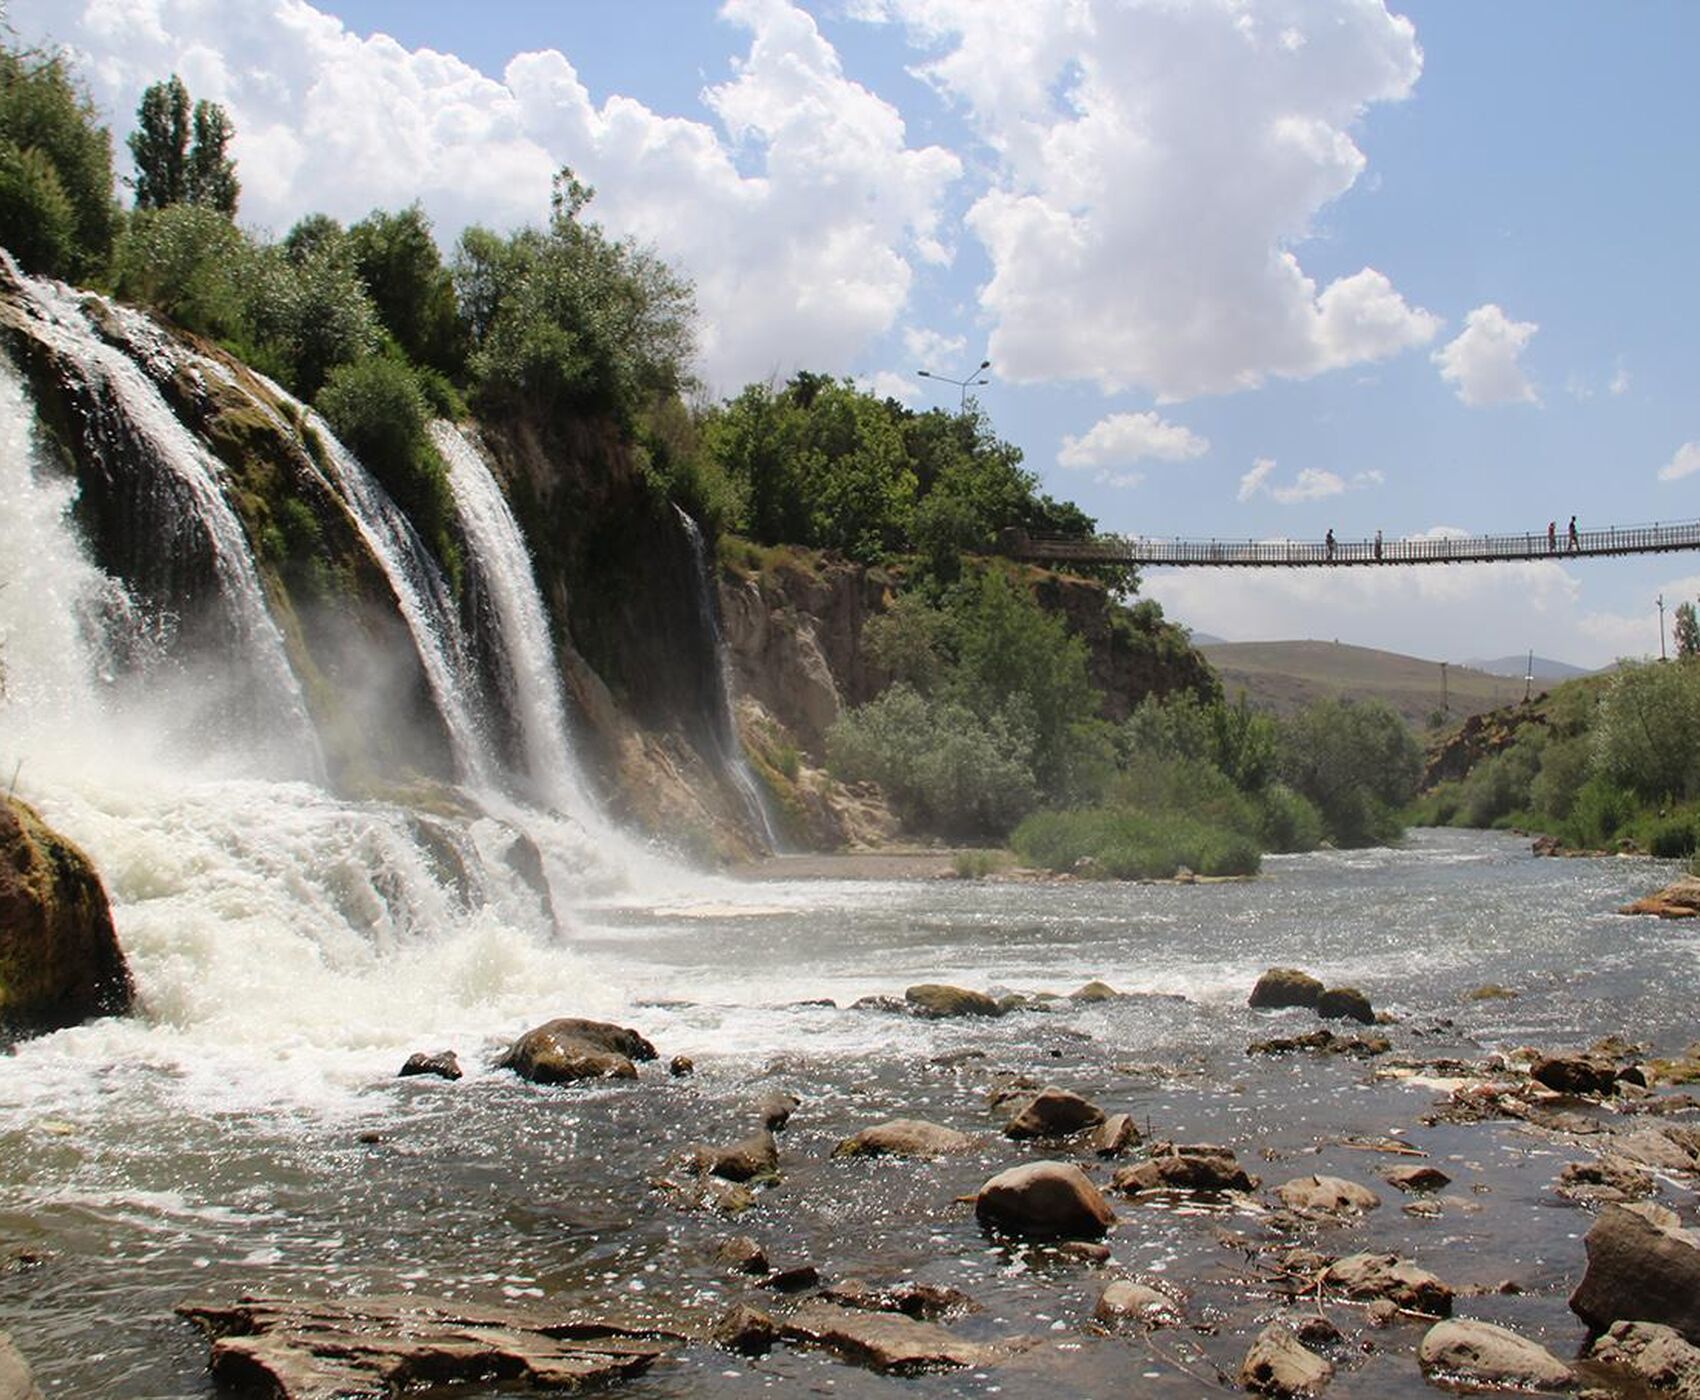
POLYGON ((1578 559, 1601 554, 1666 554, 1700 549, 1700 520, 1676 525, 1612 525, 1523 535, 1459 535, 1409 540, 1180 540, 1149 535, 1095 535, 1090 540, 1015 535, 1003 552, 1032 562, 1151 564, 1176 567, 1338 567, 1341 564, 1501 564, 1520 559, 1578 559))

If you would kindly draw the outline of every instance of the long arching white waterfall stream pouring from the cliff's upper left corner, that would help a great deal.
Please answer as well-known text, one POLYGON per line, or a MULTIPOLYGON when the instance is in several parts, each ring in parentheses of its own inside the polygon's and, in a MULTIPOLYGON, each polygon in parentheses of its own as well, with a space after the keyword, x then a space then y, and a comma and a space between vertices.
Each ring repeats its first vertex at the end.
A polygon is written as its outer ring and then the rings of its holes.
POLYGON ((162 596, 150 601, 156 608, 184 607, 194 591, 201 603, 211 601, 221 612, 228 641, 223 659, 235 664, 214 676, 202 659, 190 661, 180 686, 189 707, 187 742, 204 742, 206 729, 240 731, 252 722, 267 736, 274 765, 321 773, 301 685, 267 608, 241 522, 219 488, 223 466, 177 420, 158 386, 100 338, 78 294, 19 275, 10 258, 5 270, 31 316, 31 333, 76 377, 90 418, 87 432, 116 489, 143 517, 138 523, 151 527, 143 573, 162 596), (192 590, 196 557, 211 566, 211 590, 192 590))

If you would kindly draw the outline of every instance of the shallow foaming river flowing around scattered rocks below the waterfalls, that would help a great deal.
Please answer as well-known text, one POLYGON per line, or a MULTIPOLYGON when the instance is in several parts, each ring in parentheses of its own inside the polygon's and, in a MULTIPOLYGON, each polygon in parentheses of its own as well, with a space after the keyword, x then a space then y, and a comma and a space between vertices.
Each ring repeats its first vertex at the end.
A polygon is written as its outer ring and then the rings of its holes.
MULTIPOLYGON (((272 785, 269 800, 289 790, 272 785)), ((238 810, 221 804, 219 821, 238 810)), ((265 810, 267 839, 282 810, 265 810)), ((56 817, 99 829, 90 814, 56 817)), ((206 817, 185 812, 182 829, 206 817)), ((313 829, 326 829, 323 814, 313 829)), ((384 839, 357 807, 340 831, 325 839, 384 839)), ((196 851, 178 858, 194 867, 196 851)), ((224 938, 173 928, 158 909, 126 928, 121 907, 146 1014, 22 1043, 0 1069, 0 1327, 44 1390, 209 1395, 206 1342, 172 1313, 189 1295, 422 1291, 699 1324, 746 1295, 772 1305, 716 1261, 731 1233, 828 1281, 959 1288, 981 1310, 954 1330, 1035 1346, 988 1371, 904 1381, 790 1347, 748 1361, 685 1346, 624 1395, 1192 1397, 1212 1368, 1232 1375, 1280 1310, 1255 1267, 1263 1206, 1117 1201, 1108 1266, 988 1239, 959 1198, 1005 1166, 1068 1155, 996 1133, 986 1089, 998 1072, 1127 1109, 1158 1138, 1227 1143, 1265 1188, 1307 1172, 1375 1186, 1379 1211, 1302 1242, 1397 1249, 1462 1288, 1515 1281, 1515 1293, 1460 1298, 1459 1312, 1569 1356, 1581 1325, 1566 1296, 1591 1217, 1554 1177, 1586 1149, 1510 1121, 1425 1126, 1438 1091, 1379 1079, 1375 1060, 1248 1057, 1250 1040, 1314 1018, 1250 1011, 1246 994, 1270 965, 1358 985, 1397 1018, 1382 1028, 1396 1058, 1481 1060, 1608 1033, 1673 1052, 1693 1038, 1693 933, 1613 912, 1666 868, 1535 860, 1508 836, 1414 833, 1399 850, 1278 856, 1258 880, 1192 887, 663 870, 580 882, 552 938, 496 911, 452 936, 320 941, 311 955, 230 933, 255 924, 264 872, 255 889, 226 892, 224 938), (921 980, 1032 994, 1090 979, 1129 996, 996 1021, 850 1009, 921 980), (1516 996, 1472 1001, 1482 984, 1516 996), (821 999, 836 1006, 802 1004, 821 999), (661 1060, 636 1084, 588 1089, 488 1067, 559 1014, 636 1026, 661 1060), (466 1067, 459 1082, 394 1077, 408 1052, 447 1047, 466 1067), (668 1077, 673 1055, 695 1074, 668 1077), (780 1135, 782 1179, 751 1211, 678 1211, 651 1189, 690 1143, 748 1133, 770 1089, 801 1108, 780 1135), (986 1137, 937 1162, 831 1157, 842 1137, 898 1116, 986 1137), (1401 1211, 1375 1179, 1404 1159, 1341 1142, 1389 1133, 1454 1177, 1438 1217, 1401 1211), (1153 1339, 1095 1329, 1093 1301, 1117 1274, 1178 1284, 1198 1327, 1153 1339)), ((121 890, 139 878, 117 872, 121 890)), ((218 900, 202 890, 196 917, 207 907, 218 900)), ((1355 1308, 1331 1315, 1352 1346, 1329 1393, 1431 1393, 1416 1324, 1372 1332, 1355 1308)))

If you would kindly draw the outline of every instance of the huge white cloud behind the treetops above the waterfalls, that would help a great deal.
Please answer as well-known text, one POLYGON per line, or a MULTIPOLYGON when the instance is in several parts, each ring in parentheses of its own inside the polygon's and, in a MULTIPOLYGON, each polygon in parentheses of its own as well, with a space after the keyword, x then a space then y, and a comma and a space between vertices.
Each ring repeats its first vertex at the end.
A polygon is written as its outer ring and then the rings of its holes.
MULTIPOLYGON (((450 54, 360 37, 306 0, 12 0, 27 41, 71 48, 122 131, 143 87, 180 73, 236 124, 241 214, 280 231, 420 199, 439 234, 537 223, 571 165, 592 217, 695 280, 717 387, 843 370, 896 325, 918 265, 947 257, 938 214, 960 161, 911 146, 896 107, 852 82, 790 0, 726 0, 748 34, 702 117, 590 97, 554 49, 500 80, 450 54)), ((121 151, 122 153, 122 151, 121 151)))

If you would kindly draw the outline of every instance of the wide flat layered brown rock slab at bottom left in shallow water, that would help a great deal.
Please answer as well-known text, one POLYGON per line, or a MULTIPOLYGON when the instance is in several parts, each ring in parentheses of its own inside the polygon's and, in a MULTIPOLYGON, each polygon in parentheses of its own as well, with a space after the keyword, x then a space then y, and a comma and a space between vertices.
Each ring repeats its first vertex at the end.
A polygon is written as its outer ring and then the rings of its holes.
POLYGON ((245 1296, 177 1312, 212 1339, 218 1385, 279 1400, 491 1380, 578 1390, 641 1375, 668 1351, 612 1322, 454 1298, 245 1296))

